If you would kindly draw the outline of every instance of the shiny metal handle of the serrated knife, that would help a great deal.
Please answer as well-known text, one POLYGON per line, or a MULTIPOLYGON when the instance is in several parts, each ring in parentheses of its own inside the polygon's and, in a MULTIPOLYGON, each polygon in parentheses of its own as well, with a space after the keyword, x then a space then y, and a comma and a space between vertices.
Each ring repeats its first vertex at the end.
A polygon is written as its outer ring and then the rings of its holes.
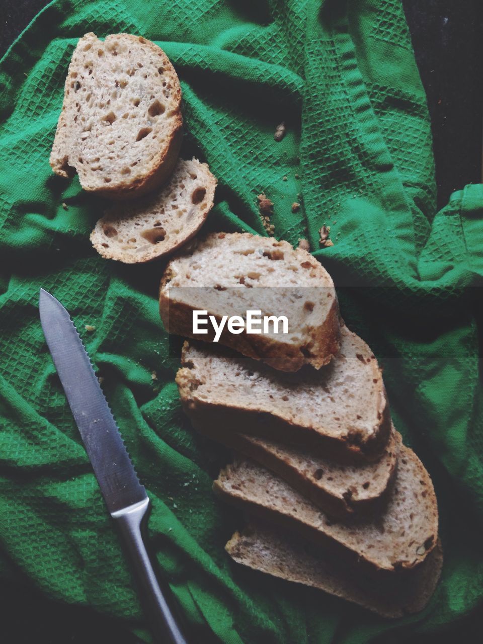
POLYGON ((149 607, 148 618, 153 625, 155 641, 162 644, 187 644, 182 630, 170 607, 171 590, 167 583, 162 587, 156 579, 142 538, 142 520, 149 506, 149 498, 117 512, 111 513, 117 523, 128 550, 133 571, 149 607))

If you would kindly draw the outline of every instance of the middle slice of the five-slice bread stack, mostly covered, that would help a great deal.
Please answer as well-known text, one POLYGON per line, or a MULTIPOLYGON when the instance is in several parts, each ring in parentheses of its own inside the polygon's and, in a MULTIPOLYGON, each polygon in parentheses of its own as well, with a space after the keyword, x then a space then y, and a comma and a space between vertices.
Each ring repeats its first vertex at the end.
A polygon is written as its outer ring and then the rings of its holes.
POLYGON ((198 431, 222 442, 269 469, 329 516, 348 518, 374 513, 383 505, 396 466, 396 439, 392 432, 379 460, 341 464, 312 451, 258 438, 238 431, 223 431, 212 423, 198 431))

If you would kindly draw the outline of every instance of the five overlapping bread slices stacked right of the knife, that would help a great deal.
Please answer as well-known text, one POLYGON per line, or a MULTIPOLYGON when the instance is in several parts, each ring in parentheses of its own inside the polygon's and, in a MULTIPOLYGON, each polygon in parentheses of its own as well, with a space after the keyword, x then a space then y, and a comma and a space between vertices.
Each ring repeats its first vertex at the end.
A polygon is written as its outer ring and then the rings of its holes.
POLYGON ((442 565, 433 485, 323 267, 287 242, 213 233, 169 261, 160 313, 191 337, 176 375, 185 412, 234 451, 213 486, 250 517, 231 557, 386 617, 420 611, 442 565), (193 310, 220 320, 245 308, 293 323, 217 343, 193 334, 193 310))

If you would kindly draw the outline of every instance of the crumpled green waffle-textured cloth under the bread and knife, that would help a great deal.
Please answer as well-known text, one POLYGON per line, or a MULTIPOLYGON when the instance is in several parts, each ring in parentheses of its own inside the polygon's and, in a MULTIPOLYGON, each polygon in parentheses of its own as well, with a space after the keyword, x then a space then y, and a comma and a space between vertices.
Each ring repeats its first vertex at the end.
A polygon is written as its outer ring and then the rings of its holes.
MULTIPOLYGON (((41 595, 62 602, 60 616, 84 605, 83 619, 106 616, 149 641, 41 333, 44 287, 70 310, 104 378, 153 501, 151 544, 198 628, 195 641, 211 632, 227 644, 386 644, 450 632, 476 641, 468 634, 483 596, 483 187, 469 185, 435 212, 426 99, 399 1, 59 0, 10 48, 0 83, 3 591, 24 588, 26 616, 29 598, 41 595), (89 31, 141 33, 175 64, 183 155, 204 158, 218 177, 207 227, 263 234, 264 192, 276 236, 308 236, 334 276, 346 322, 384 366, 395 424, 435 482, 445 564, 421 614, 384 621, 236 567, 224 553, 241 517, 211 493, 227 454, 180 411, 180 341, 168 341, 156 303, 162 267, 102 260, 88 239, 100 202, 48 164, 71 52, 89 31), (281 120, 287 136, 276 143, 281 120), (322 223, 331 226, 328 249, 318 247, 322 223)), ((28 620, 17 628, 27 632, 28 620)))

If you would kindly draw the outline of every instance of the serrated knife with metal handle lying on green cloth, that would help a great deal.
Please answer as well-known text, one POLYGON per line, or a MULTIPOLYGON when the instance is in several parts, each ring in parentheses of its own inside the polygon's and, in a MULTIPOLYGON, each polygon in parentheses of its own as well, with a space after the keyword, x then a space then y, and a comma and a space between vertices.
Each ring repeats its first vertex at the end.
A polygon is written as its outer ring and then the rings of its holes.
POLYGON ((70 315, 41 289, 39 311, 53 363, 81 432, 100 491, 131 559, 153 636, 162 644, 186 644, 167 582, 160 585, 143 533, 149 497, 122 441, 89 356, 70 315))

